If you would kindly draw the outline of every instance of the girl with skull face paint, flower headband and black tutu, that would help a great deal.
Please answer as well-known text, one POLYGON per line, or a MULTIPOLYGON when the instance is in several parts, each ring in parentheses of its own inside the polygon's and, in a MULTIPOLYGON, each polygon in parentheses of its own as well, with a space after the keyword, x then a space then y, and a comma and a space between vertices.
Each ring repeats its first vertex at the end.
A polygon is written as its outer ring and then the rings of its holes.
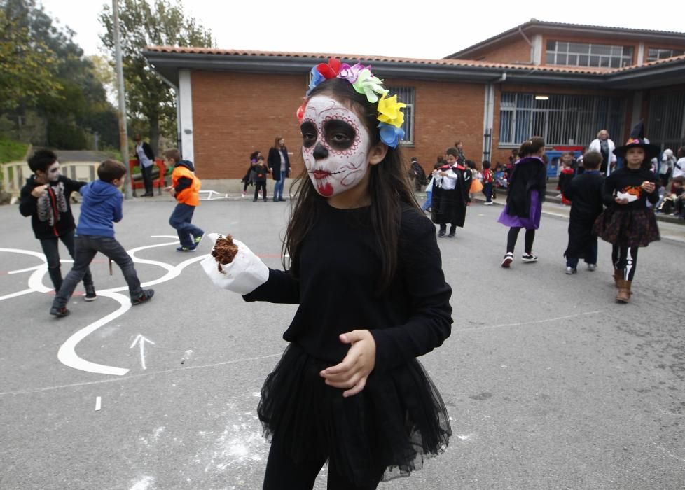
POLYGON ((290 267, 232 290, 299 305, 261 390, 264 488, 311 489, 328 461, 329 489, 375 489, 448 444, 445 405, 416 358, 450 335, 451 288, 397 148, 401 104, 361 64, 331 59, 312 75, 290 267))

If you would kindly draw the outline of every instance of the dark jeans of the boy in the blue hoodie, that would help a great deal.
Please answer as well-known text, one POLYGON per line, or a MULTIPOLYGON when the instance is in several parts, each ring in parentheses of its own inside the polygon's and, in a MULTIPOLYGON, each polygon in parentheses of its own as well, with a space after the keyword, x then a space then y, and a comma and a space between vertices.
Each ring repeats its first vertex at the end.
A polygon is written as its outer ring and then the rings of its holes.
POLYGON ((88 272, 88 265, 90 265, 90 262, 92 262, 92 259, 98 252, 111 258, 119 266, 124 274, 124 279, 128 284, 128 292, 132 298, 138 297, 143 292, 136 269, 133 267, 133 260, 116 239, 94 235, 78 235, 75 239, 75 252, 74 267, 71 267, 69 274, 64 278, 62 287, 57 291, 55 300, 53 300, 54 307, 62 308, 67 306, 69 297, 74 293, 76 284, 88 272))

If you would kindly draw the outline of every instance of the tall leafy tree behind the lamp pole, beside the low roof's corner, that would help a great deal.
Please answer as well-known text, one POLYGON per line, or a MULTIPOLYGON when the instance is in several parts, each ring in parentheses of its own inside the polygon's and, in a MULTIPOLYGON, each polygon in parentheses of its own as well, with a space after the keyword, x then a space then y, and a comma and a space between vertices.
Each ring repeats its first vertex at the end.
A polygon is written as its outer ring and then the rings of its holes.
MULTIPOLYGON (((100 22, 106 29, 102 43, 114 57, 113 17, 104 7, 100 22)), ((176 99, 173 90, 155 76, 143 57, 147 45, 212 48, 212 33, 195 18, 184 15, 181 3, 169 0, 122 0, 119 3, 120 43, 123 57, 126 104, 132 125, 143 121, 151 146, 158 150, 160 130, 176 136, 176 99)))

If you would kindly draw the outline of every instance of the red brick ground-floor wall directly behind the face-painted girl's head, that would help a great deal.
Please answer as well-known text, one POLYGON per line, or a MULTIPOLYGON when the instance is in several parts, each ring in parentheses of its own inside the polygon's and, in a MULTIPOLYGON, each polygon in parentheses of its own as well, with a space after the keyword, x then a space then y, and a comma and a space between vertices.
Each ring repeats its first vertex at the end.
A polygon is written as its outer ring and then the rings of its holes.
MULTIPOLYGON (((387 78, 386 86, 415 89, 415 144, 403 146, 406 160, 417 157, 427 171, 436 155, 464 141, 467 158, 480 162, 483 151, 484 87, 387 78)), ((307 90, 305 75, 260 75, 194 71, 193 144, 200 179, 241 179, 249 154, 266 157, 282 135, 293 176, 303 168, 295 112, 307 90)))

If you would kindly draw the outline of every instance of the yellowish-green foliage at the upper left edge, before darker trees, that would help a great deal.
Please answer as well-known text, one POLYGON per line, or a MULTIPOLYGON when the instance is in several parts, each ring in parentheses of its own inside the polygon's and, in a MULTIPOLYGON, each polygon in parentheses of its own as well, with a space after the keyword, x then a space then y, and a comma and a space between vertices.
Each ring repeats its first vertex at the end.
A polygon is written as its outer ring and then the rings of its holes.
POLYGON ((53 78, 55 53, 31 36, 25 11, 0 1, 0 111, 56 97, 61 85, 53 78))

